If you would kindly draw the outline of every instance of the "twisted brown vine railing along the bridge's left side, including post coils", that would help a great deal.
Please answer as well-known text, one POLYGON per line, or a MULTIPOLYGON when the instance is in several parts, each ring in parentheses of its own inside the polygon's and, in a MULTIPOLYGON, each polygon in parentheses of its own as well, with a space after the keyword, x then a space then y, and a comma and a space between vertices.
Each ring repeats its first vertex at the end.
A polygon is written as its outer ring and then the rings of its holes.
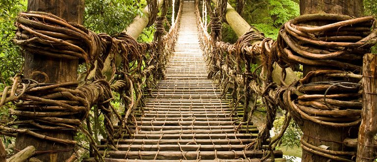
POLYGON ((85 76, 84 82, 80 83, 43 83, 17 75, 13 85, 0 92, 0 106, 13 103, 15 107, 9 108, 10 114, 16 116, 14 121, 0 126, 1 134, 27 134, 52 142, 76 144, 75 140, 59 139, 37 132, 81 130, 90 145, 93 145, 91 148, 94 149, 96 160, 103 161, 95 147, 97 142, 92 137, 88 122, 92 111, 94 116, 103 114, 108 147, 117 150, 114 138, 131 135, 129 126, 137 124, 134 111, 136 106, 143 103, 143 88, 148 89, 157 80, 164 78, 164 65, 174 50, 180 27, 182 3, 175 23, 170 27, 165 18, 167 0, 164 1, 166 5, 160 17, 156 17, 159 12, 157 0, 149 2, 152 15, 149 25, 155 23, 156 28, 154 41, 150 43, 138 43, 126 33, 97 34, 50 13, 20 13, 15 23, 18 27, 15 44, 31 54, 79 60, 86 65, 87 71, 82 74, 85 76), (170 27, 169 32, 165 31, 165 23, 170 27), (119 66, 115 63, 116 56, 122 58, 119 66), (102 71, 105 60, 109 58, 112 58, 112 71, 107 78, 102 71), (95 75, 88 77, 92 71, 95 75), (119 94, 119 101, 124 105, 122 115, 111 104, 114 93, 119 94), (114 119, 120 123, 117 130, 113 128, 114 119), (31 128, 17 128, 20 125, 31 128))

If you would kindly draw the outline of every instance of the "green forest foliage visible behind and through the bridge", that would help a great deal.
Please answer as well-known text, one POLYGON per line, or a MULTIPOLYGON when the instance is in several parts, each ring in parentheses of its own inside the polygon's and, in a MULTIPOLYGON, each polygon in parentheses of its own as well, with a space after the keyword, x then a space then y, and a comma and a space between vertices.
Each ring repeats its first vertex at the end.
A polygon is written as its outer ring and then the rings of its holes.
MULTIPOLYGON (((175 1, 178 2, 178 0, 175 1)), ((228 2, 235 6, 235 0, 228 0, 228 2)), ((84 26, 96 33, 120 32, 132 23, 137 14, 142 14, 141 11, 145 6, 146 0, 85 0, 84 26)), ((0 0, 0 91, 11 84, 11 78, 23 71, 22 51, 12 43, 12 39, 15 36, 16 27, 13 24, 17 15, 26 10, 27 0, 0 0)), ((171 9, 169 12, 167 20, 171 20, 171 9)), ((364 12, 365 15, 377 16, 377 0, 364 0, 364 12)), ((266 37, 276 39, 280 27, 299 14, 299 0, 245 0, 242 17, 247 23, 264 32, 266 37)), ((153 33, 153 26, 145 28, 138 41, 152 41, 153 33)), ((223 23, 222 39, 224 42, 230 43, 234 43, 238 39, 226 23, 223 23)), ((373 51, 376 52, 375 49, 373 51)), ((113 104, 118 108, 121 107, 117 101, 114 101, 113 104)), ((8 107, 11 106, 8 105, 8 107)), ((9 115, 8 107, 0 108, 0 124, 13 120, 13 117, 9 115)), ((259 112, 263 116, 263 108, 259 109, 259 112)), ((274 123, 275 131, 279 130, 282 121, 282 117, 277 117, 274 123)), ((98 141, 99 137, 106 135, 103 125, 101 121, 91 120, 90 122, 94 138, 98 141)), ((297 126, 292 122, 281 141, 281 147, 286 148, 286 154, 300 156, 299 151, 296 151, 300 150, 300 134, 297 126)), ((15 139, 3 135, 0 137, 8 154, 12 154, 11 148, 13 148, 15 139)), ((82 156, 87 156, 86 139, 80 134, 77 138, 78 141, 81 141, 77 150, 84 150, 81 151, 82 156)))

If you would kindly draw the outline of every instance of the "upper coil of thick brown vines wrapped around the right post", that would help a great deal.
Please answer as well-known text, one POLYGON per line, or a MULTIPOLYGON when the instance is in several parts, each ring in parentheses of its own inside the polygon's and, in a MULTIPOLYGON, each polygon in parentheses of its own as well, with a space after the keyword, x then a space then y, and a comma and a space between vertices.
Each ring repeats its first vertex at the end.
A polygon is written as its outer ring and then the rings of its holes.
POLYGON ((362 55, 376 44, 373 16, 352 19, 337 14, 307 14, 286 23, 276 46, 280 65, 292 62, 360 72, 362 55), (335 21, 320 27, 302 25, 311 21, 335 21), (289 48, 286 48, 286 47, 289 48))

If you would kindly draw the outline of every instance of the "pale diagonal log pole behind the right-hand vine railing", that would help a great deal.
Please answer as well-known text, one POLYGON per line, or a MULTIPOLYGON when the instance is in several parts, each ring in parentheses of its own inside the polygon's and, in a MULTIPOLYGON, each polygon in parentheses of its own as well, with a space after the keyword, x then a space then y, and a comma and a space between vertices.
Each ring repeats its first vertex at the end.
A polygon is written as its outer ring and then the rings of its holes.
MULTIPOLYGON (((212 1, 216 4, 217 0, 212 0, 212 1)), ((252 28, 229 3, 226 6, 225 17, 229 26, 233 29, 233 31, 236 33, 238 37, 242 36, 244 33, 248 31, 255 30, 255 28, 252 28)), ((260 41, 253 42, 252 44, 257 44, 257 43, 260 43, 260 41)), ((258 58, 258 59, 261 60, 261 58, 258 58)), ((272 72, 272 80, 275 83, 280 84, 282 68, 275 62, 273 63, 273 67, 274 69, 272 72)), ((287 75, 286 75, 286 79, 284 80, 286 84, 291 84, 292 82, 299 79, 291 68, 287 68, 286 71, 287 71, 287 75)))

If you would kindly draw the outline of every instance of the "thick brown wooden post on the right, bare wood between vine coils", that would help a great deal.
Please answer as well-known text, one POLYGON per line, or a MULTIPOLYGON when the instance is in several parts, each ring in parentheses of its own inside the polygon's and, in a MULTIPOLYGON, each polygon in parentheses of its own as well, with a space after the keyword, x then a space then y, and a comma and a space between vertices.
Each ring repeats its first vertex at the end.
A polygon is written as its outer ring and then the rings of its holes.
MULTIPOLYGON (((300 0, 300 13, 301 15, 313 13, 332 13, 361 17, 363 16, 363 0, 300 0)), ((312 25, 323 25, 321 23, 322 22, 313 22, 312 25)), ((303 76, 310 71, 319 69, 318 67, 312 66, 303 67, 303 76)), ((317 77, 311 81, 326 81, 326 79, 317 77)), ((302 140, 305 140, 314 146, 329 146, 329 150, 335 151, 345 150, 345 146, 342 144, 342 141, 347 137, 347 135, 349 135, 349 132, 356 132, 358 130, 357 127, 325 127, 308 120, 304 120, 303 127, 301 128, 304 134, 302 140)), ((316 155, 305 150, 302 151, 303 162, 326 162, 328 160, 328 158, 320 155, 316 155)))

